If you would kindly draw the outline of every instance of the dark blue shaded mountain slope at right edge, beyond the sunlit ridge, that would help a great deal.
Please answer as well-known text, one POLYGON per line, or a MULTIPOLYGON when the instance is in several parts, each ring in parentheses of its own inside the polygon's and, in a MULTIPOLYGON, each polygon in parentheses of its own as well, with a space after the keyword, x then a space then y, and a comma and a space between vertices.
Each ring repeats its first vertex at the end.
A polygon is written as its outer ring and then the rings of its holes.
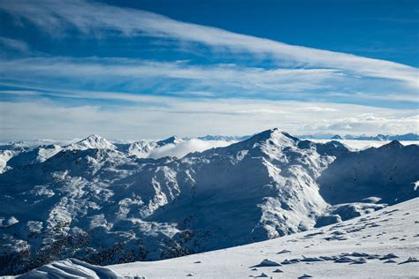
POLYGON ((397 140, 378 148, 339 157, 318 182, 324 200, 331 204, 378 197, 394 204, 419 196, 419 146, 404 147, 397 140))

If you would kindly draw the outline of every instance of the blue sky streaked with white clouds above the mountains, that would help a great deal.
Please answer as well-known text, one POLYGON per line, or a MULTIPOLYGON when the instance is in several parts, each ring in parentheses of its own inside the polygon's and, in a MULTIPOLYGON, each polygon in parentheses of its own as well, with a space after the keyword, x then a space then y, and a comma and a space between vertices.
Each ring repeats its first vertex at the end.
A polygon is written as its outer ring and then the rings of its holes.
POLYGON ((419 132, 417 1, 0 0, 0 140, 419 132))

